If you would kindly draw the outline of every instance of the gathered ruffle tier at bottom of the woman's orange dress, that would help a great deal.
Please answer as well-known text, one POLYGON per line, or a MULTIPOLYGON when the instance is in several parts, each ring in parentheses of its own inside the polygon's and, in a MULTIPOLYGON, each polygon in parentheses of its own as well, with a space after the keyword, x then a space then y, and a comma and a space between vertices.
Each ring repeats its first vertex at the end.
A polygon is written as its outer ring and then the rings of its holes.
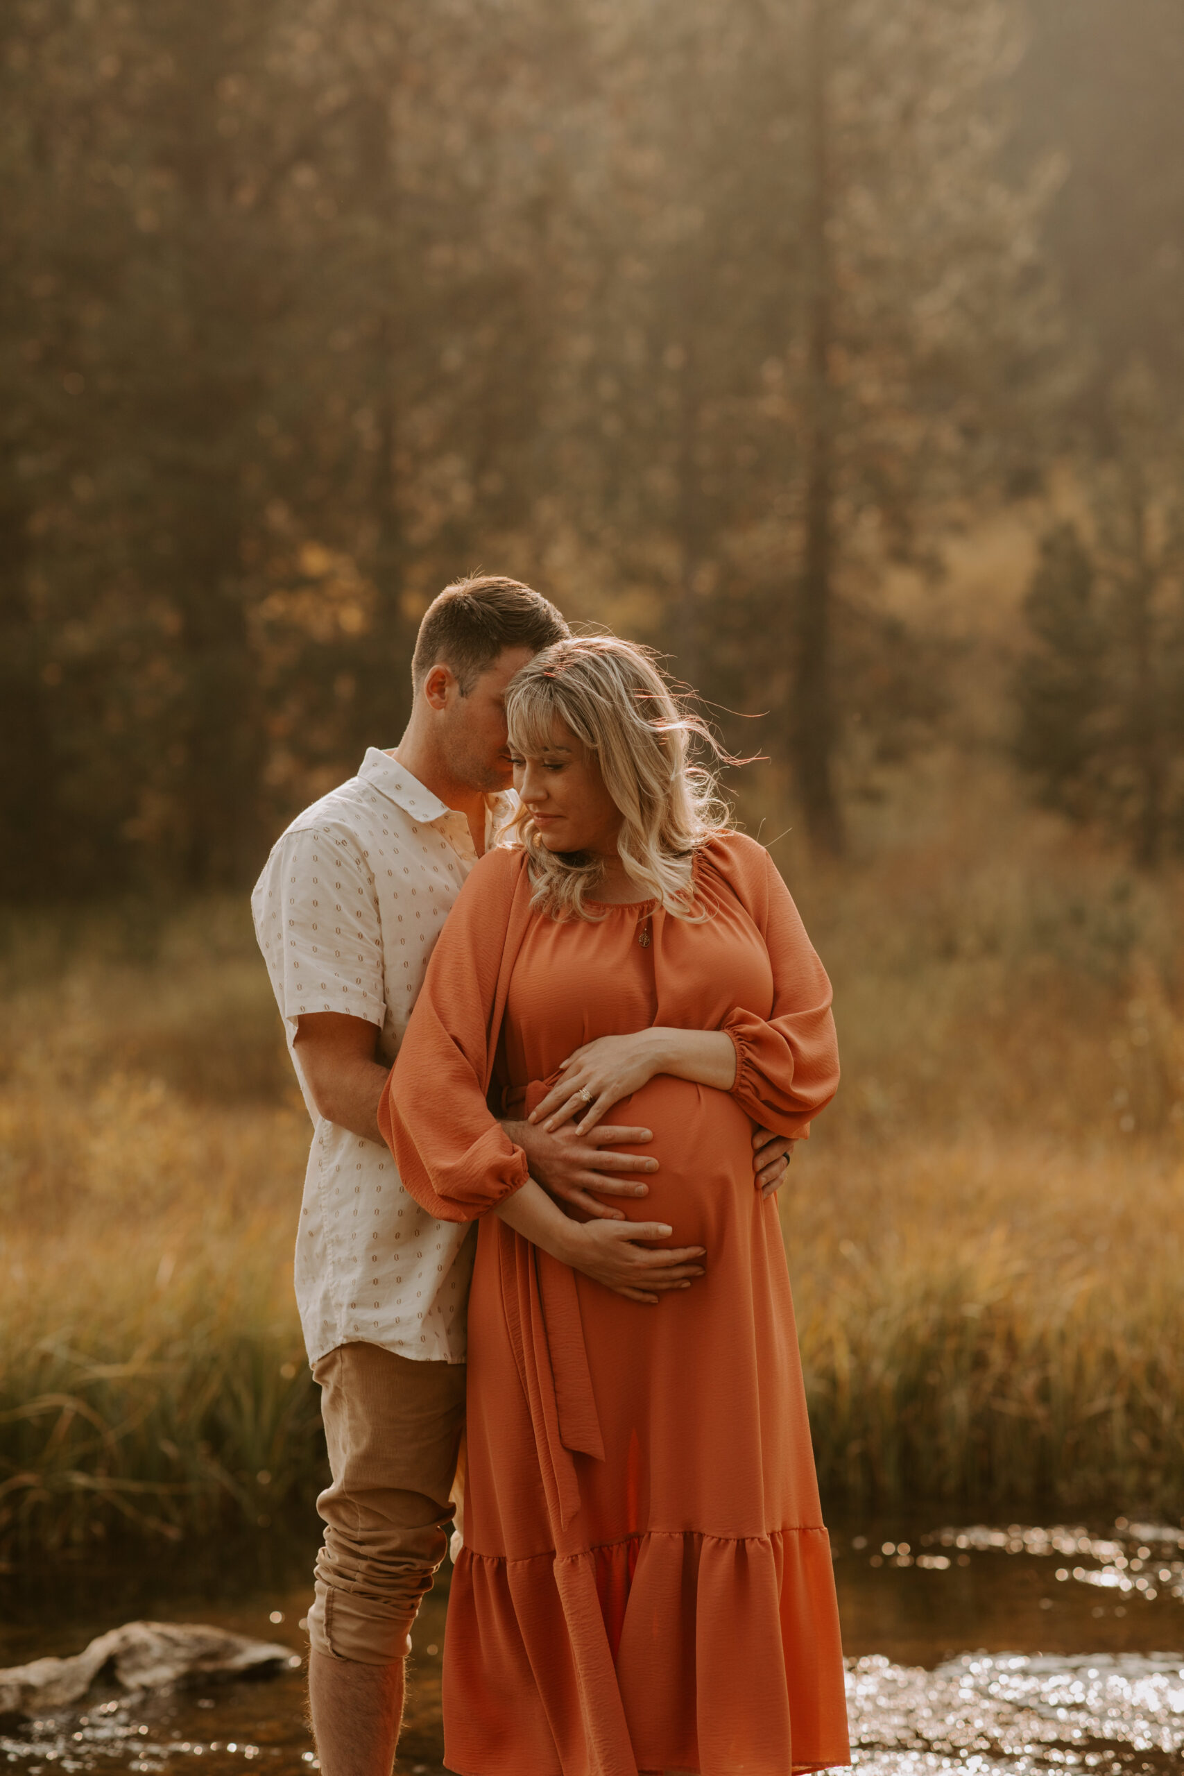
POLYGON ((850 1764, 827 1533, 651 1531, 529 1559, 462 1549, 444 1696, 458 1776, 850 1764))

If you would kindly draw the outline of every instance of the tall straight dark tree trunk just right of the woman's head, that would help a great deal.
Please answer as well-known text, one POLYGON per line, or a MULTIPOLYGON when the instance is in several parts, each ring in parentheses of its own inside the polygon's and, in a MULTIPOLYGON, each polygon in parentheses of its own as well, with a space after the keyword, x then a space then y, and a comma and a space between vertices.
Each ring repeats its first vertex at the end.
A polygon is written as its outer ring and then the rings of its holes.
POLYGON ((834 583, 834 400, 831 341, 834 281, 827 222, 829 156, 829 0, 808 0, 808 424, 806 547, 792 625, 790 757, 811 840, 833 856, 843 851, 843 821, 834 792, 838 712, 833 682, 834 583))

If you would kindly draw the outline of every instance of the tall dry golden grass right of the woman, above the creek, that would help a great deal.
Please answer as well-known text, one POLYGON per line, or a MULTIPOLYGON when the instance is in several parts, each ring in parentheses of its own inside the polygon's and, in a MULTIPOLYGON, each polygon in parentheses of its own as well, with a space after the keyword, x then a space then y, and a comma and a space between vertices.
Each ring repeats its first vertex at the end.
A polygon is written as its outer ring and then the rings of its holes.
POLYGON ((909 789, 786 870, 845 1058, 783 1192, 824 1487, 1179 1515, 1184 879, 982 765, 909 789))

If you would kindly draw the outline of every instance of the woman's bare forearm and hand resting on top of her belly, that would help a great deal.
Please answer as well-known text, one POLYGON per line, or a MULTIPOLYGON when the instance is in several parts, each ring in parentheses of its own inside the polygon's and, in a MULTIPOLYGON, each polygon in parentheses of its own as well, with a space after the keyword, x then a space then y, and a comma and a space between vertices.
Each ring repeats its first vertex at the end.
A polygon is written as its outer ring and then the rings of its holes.
POLYGON ((600 1035, 563 1062, 563 1076, 547 1092, 531 1122, 556 1130, 579 1115, 584 1135, 612 1105, 639 1092, 659 1073, 730 1092, 737 1078, 737 1044, 722 1030, 675 1030, 657 1025, 632 1035, 600 1035))

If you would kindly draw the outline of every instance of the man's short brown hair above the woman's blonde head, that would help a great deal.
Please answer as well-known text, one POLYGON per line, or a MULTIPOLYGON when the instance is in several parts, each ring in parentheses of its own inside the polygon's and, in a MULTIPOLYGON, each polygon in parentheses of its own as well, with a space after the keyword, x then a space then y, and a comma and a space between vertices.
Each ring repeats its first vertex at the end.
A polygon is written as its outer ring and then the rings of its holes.
POLYGON ((419 691, 433 666, 447 666, 469 696, 504 648, 533 654, 570 634, 559 611, 520 579, 479 574, 453 581, 431 600, 419 625, 412 684, 419 691))

